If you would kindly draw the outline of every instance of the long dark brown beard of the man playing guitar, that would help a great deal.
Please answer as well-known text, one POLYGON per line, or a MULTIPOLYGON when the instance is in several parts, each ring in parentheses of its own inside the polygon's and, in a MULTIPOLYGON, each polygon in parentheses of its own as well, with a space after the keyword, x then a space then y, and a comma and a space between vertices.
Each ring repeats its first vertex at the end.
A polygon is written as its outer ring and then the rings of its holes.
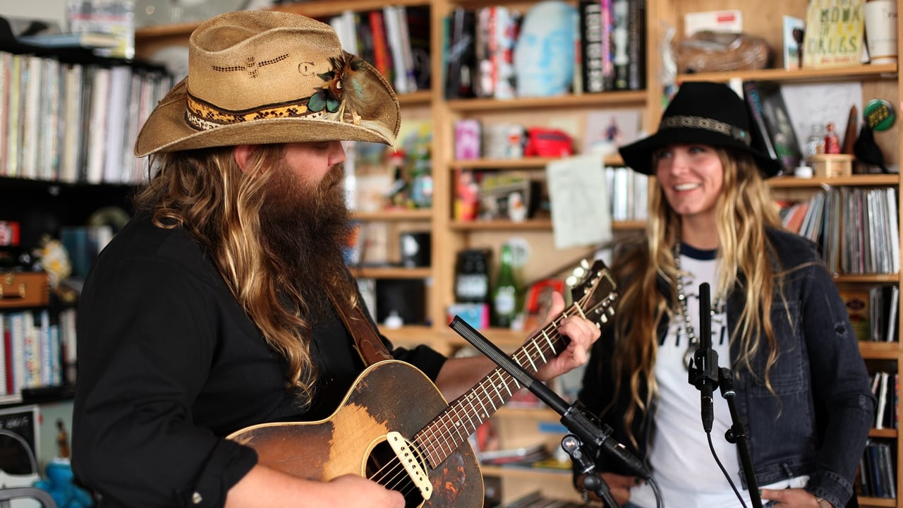
POLYGON ((337 297, 350 291, 342 257, 351 232, 344 171, 333 166, 316 186, 288 167, 275 171, 260 211, 261 241, 273 254, 278 279, 302 296, 303 313, 314 319, 329 308, 325 287, 337 297))

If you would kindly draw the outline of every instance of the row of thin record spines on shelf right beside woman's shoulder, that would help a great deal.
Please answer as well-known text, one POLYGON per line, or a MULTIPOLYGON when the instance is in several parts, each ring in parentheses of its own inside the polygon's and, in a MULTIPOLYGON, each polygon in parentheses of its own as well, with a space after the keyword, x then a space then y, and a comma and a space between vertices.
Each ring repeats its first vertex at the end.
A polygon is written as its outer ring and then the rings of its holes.
POLYGON ((831 187, 782 210, 784 226, 817 242, 834 273, 894 274, 900 269, 894 187, 831 187))

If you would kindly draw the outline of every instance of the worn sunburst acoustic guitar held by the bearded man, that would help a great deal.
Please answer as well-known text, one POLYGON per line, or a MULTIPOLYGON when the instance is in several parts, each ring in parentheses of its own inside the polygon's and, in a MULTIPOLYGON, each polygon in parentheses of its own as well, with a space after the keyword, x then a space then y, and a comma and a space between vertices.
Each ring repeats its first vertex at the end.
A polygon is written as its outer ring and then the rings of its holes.
MULTIPOLYGON (((530 372, 567 347, 558 333, 565 317, 583 315, 600 325, 613 315, 618 296, 602 261, 572 295, 572 306, 512 354, 530 372)), ((450 404, 423 372, 387 360, 362 372, 327 419, 264 423, 228 438, 290 475, 320 481, 365 476, 404 494, 406 508, 482 506, 483 479, 468 437, 520 388, 499 367, 450 404)))

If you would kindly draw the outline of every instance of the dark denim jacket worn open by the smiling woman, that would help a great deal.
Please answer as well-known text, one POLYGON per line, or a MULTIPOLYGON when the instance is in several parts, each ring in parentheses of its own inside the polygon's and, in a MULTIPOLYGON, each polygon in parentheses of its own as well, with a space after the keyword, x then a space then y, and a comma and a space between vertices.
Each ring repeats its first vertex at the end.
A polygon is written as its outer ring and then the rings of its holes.
MULTIPOLYGON (((783 287, 787 306, 777 296, 770 310, 780 351, 770 372, 775 393, 764 382, 767 347, 759 348, 752 358, 755 375, 742 365, 732 368, 737 412, 746 428, 750 459, 759 485, 810 475, 807 491, 834 506, 844 506, 852 497, 856 466, 874 421, 875 397, 869 374, 846 307, 815 244, 774 229, 768 229, 768 240, 774 249, 772 258, 777 257, 780 266, 788 267, 783 287)), ((781 271, 777 265, 776 270, 781 271)), ((660 279, 658 283, 659 291, 669 295, 667 282, 660 279)), ((743 283, 741 278, 739 285, 743 283)), ((739 287, 728 296, 731 333, 744 302, 739 287)), ((620 308, 619 318, 628 318, 628 312, 620 308)), ((667 323, 659 324, 660 336, 666 329, 667 323)), ((766 343, 764 336, 760 340, 766 343)), ((597 415, 616 396, 613 372, 608 368, 613 351, 614 330, 609 326, 593 346, 579 396, 597 415)), ((738 353, 738 344, 731 343, 731 361, 738 353)), ((645 384, 641 386, 641 397, 646 390, 645 384)), ((622 420, 631 404, 627 380, 621 381, 617 395, 611 409, 601 415, 602 423, 613 428, 611 437, 645 462, 649 433, 655 431, 651 419, 655 401, 652 408, 634 419, 634 446, 622 420)), ((608 456, 600 456, 598 462, 599 471, 635 474, 608 456)))

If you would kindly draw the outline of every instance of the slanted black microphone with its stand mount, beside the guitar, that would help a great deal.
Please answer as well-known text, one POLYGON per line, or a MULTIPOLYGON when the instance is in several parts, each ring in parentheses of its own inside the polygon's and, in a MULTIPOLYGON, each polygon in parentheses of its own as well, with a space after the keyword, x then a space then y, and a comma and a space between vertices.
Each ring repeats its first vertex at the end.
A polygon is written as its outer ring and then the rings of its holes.
POLYGON ((548 407, 562 415, 561 423, 571 431, 571 434, 565 436, 562 440, 563 449, 574 458, 574 464, 582 468, 582 473, 587 474, 585 478, 590 479, 589 482, 584 479, 584 487, 599 495, 600 499, 605 501, 610 508, 618 508, 618 503, 611 498, 609 485, 602 480, 600 475, 593 472, 595 468, 594 462, 582 453, 584 444, 591 448, 593 456, 598 456, 600 450, 605 450, 636 471, 638 475, 647 480, 652 480, 652 475, 648 472, 646 466, 643 466, 643 463, 636 456, 630 454, 624 445, 610 437, 613 431, 612 428, 607 425, 600 426, 598 419, 595 419, 580 401, 576 401, 569 406, 554 390, 545 386, 545 383, 537 380, 533 374, 527 372, 517 362, 514 362, 506 353, 498 349, 498 346, 490 343, 489 339, 479 334, 460 316, 455 315, 449 326, 461 337, 473 344, 480 353, 488 356, 490 360, 513 376, 521 386, 532 391, 539 400, 542 400, 548 407))

